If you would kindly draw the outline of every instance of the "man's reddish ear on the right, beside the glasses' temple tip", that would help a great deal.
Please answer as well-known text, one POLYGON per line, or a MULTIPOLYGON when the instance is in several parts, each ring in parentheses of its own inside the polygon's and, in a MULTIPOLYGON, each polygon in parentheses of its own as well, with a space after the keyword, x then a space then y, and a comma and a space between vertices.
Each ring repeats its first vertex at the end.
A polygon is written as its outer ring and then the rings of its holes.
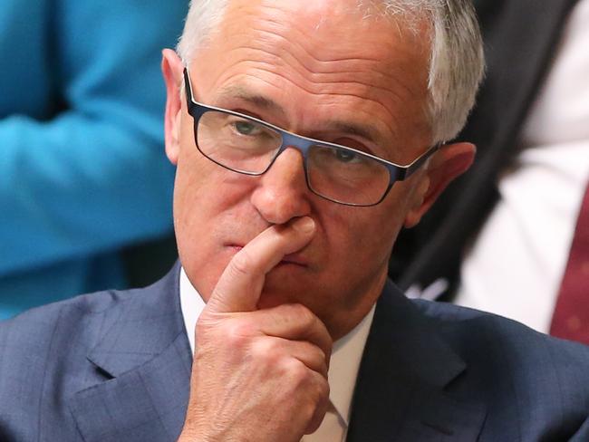
POLYGON ((415 206, 405 216, 405 227, 416 226, 420 222, 421 216, 430 210, 449 183, 470 168, 476 151, 474 144, 454 143, 442 146, 431 157, 416 190, 415 206))

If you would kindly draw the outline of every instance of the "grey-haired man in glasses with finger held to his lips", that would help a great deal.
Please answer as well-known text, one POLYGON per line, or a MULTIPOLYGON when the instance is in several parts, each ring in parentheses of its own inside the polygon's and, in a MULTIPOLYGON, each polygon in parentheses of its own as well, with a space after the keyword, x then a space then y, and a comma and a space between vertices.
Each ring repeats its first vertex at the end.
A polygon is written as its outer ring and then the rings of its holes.
POLYGON ((162 62, 181 268, 5 323, 0 435, 586 439, 584 347, 386 281, 473 159, 438 145, 479 42, 464 1, 192 5, 162 62))

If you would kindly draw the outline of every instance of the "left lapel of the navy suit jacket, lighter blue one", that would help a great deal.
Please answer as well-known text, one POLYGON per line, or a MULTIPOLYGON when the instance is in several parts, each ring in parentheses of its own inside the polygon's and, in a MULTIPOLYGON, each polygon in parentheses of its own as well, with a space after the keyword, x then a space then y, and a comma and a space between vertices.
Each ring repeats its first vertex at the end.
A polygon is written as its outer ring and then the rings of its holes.
POLYGON ((188 404, 192 356, 179 307, 179 265, 123 295, 88 355, 104 381, 70 409, 86 442, 176 440, 188 404))

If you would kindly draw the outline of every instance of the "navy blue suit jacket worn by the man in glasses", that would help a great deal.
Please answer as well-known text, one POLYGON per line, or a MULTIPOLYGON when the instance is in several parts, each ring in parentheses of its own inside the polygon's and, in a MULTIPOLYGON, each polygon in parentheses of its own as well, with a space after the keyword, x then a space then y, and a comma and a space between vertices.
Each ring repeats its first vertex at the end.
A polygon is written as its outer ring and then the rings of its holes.
MULTIPOLYGON (((191 362, 178 265, 25 312, 0 324, 0 440, 176 440, 191 362)), ((348 441, 581 442, 588 414, 589 347, 387 283, 348 441)))

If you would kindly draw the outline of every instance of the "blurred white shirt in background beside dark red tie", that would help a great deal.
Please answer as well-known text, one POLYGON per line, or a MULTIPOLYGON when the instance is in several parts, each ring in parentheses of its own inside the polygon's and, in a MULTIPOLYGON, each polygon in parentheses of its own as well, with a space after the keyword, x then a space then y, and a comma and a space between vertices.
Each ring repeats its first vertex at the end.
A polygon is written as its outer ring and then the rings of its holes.
POLYGON ((547 332, 589 180, 589 0, 570 15, 500 201, 461 267, 457 303, 547 332))

